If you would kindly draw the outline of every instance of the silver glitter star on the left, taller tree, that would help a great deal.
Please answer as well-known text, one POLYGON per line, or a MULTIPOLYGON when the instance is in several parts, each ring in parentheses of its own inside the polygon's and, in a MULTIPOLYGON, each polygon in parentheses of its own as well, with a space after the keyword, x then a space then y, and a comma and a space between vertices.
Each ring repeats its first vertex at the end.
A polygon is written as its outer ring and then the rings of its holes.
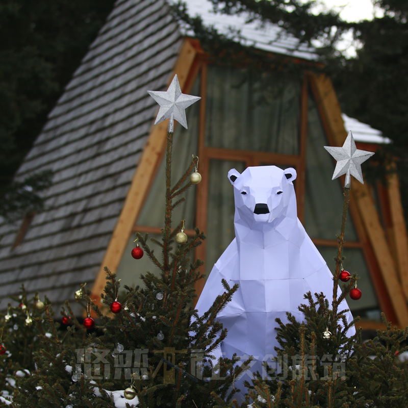
POLYGON ((173 81, 171 81, 166 92, 147 92, 160 105, 155 124, 158 124, 165 119, 170 119, 167 131, 172 133, 174 130, 175 119, 187 129, 185 109, 194 104, 198 99, 201 99, 201 97, 182 93, 177 75, 174 75, 173 81))

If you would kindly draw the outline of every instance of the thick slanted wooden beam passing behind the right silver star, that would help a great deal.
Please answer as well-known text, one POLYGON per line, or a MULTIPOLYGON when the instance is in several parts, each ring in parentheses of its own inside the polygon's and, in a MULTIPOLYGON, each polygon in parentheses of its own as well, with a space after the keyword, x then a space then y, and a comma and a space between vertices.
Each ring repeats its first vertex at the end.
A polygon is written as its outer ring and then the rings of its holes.
MULTIPOLYGON (((333 137, 337 146, 342 146, 347 132, 344 129, 340 104, 333 85, 324 74, 311 74, 311 82, 318 96, 316 102, 324 112, 330 127, 331 137, 333 137)), ((395 315, 398 319, 398 325, 401 328, 405 327, 408 325, 408 308, 405 296, 400 286, 394 260, 385 238, 385 232, 381 226, 367 185, 363 185, 353 179, 351 181, 351 196, 356 202, 360 218, 363 221, 370 243, 374 249, 382 278, 384 279, 395 315)))

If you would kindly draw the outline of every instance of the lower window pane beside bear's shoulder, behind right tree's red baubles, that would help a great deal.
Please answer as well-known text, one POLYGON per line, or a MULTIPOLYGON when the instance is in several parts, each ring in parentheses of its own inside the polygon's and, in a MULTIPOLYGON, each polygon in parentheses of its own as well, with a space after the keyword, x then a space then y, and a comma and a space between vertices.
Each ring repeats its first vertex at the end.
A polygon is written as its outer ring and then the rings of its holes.
MULTIPOLYGON (((336 248, 318 246, 317 249, 326 261, 331 273, 334 274, 336 264, 333 258, 336 256, 336 248)), ((343 262, 343 267, 351 274, 356 273, 360 276, 357 285, 363 293, 359 300, 352 300, 347 297, 347 303, 353 316, 360 316, 363 319, 380 320, 378 300, 371 283, 371 277, 364 260, 363 251, 359 248, 344 248, 343 253, 346 257, 343 262)))

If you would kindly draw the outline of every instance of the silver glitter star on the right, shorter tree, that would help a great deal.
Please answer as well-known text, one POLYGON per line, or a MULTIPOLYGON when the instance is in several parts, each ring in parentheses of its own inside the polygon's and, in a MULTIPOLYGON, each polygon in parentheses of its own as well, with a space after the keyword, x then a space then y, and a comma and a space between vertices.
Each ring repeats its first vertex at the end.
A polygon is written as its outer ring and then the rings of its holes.
POLYGON ((337 179, 337 177, 345 174, 346 181, 344 183, 344 187, 350 187, 351 174, 360 183, 364 184, 361 164, 370 158, 374 153, 356 148, 351 131, 348 133, 342 147, 324 146, 324 148, 337 160, 335 172, 333 173, 331 180, 337 179))

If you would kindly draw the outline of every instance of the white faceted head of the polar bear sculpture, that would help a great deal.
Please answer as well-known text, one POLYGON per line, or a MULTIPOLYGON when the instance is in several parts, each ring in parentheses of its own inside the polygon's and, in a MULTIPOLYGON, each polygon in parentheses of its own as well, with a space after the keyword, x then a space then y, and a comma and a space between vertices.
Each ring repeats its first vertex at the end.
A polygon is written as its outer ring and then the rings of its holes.
POLYGON ((282 216, 297 217, 293 180, 296 170, 276 166, 248 167, 242 174, 228 171, 234 186, 235 207, 247 222, 272 222, 282 216))

